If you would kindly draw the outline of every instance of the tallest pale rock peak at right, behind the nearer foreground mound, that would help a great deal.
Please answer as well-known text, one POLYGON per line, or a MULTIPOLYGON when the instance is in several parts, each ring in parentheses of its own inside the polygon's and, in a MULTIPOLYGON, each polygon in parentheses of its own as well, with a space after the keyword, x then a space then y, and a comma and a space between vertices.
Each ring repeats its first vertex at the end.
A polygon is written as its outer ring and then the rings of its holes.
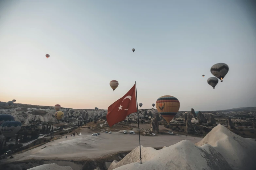
POLYGON ((256 169, 256 141, 243 138, 218 125, 196 145, 206 143, 218 150, 233 169, 256 169))

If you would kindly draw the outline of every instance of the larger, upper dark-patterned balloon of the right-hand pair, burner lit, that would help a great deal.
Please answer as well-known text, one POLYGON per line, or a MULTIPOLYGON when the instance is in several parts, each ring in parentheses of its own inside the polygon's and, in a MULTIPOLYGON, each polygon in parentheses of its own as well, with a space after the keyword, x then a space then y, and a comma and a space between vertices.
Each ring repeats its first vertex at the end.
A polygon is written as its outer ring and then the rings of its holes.
POLYGON ((217 63, 211 67, 211 73, 213 74, 213 76, 220 79, 220 82, 223 81, 222 79, 226 76, 228 72, 229 66, 225 63, 217 63))

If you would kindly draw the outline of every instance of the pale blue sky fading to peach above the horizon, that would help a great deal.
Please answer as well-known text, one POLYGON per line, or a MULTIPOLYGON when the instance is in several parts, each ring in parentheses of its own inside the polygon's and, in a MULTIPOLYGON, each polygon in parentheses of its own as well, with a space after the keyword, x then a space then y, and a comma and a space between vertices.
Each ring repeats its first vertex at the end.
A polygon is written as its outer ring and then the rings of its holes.
POLYGON ((143 109, 163 95, 179 111, 256 106, 256 8, 244 2, 0 0, 0 101, 107 109, 137 81, 143 109), (230 70, 213 89, 216 63, 230 70))

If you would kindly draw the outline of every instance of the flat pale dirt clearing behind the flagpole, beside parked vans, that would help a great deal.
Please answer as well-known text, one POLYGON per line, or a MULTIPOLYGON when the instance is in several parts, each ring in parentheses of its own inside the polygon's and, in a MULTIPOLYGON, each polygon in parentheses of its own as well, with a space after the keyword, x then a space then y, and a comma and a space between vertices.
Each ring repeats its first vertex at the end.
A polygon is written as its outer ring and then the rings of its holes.
MULTIPOLYGON (((147 126, 145 124, 145 126, 147 126)), ((88 129, 87 127, 76 129, 75 131, 82 135, 71 137, 64 135, 61 139, 48 142, 43 146, 28 150, 24 153, 13 155, 13 159, 4 159, 4 162, 24 161, 31 158, 34 159, 65 159, 78 160, 86 158, 100 158, 110 153, 132 150, 139 146, 139 136, 123 134, 123 130, 112 130, 112 134, 105 134, 106 130, 111 128, 88 129), (99 136, 92 136, 91 132, 99 132, 99 136), (65 137, 67 136, 67 139, 65 137), (43 149, 42 149, 43 148, 43 149)), ((114 128, 114 127, 113 127, 114 128)), ((112 129, 113 129, 112 128, 112 129)), ((119 127, 120 128, 120 127, 119 127)), ((125 130, 130 130, 130 127, 125 130)), ((133 131, 138 130, 136 127, 133 131)), ((202 138, 191 136, 173 136, 173 135, 157 135, 157 136, 141 136, 141 145, 144 147, 163 147, 176 144, 181 140, 190 140, 193 143, 199 142, 202 138)))

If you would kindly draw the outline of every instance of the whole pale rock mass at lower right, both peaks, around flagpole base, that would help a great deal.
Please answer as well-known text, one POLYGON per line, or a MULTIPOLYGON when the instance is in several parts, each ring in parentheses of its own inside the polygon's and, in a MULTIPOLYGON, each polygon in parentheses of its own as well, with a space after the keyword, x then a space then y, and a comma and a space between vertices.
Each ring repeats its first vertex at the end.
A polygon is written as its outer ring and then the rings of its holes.
POLYGON ((196 145, 183 140, 160 150, 142 148, 142 164, 137 147, 120 162, 113 161, 109 170, 254 170, 256 167, 256 142, 240 137, 222 125, 214 127, 196 145))

